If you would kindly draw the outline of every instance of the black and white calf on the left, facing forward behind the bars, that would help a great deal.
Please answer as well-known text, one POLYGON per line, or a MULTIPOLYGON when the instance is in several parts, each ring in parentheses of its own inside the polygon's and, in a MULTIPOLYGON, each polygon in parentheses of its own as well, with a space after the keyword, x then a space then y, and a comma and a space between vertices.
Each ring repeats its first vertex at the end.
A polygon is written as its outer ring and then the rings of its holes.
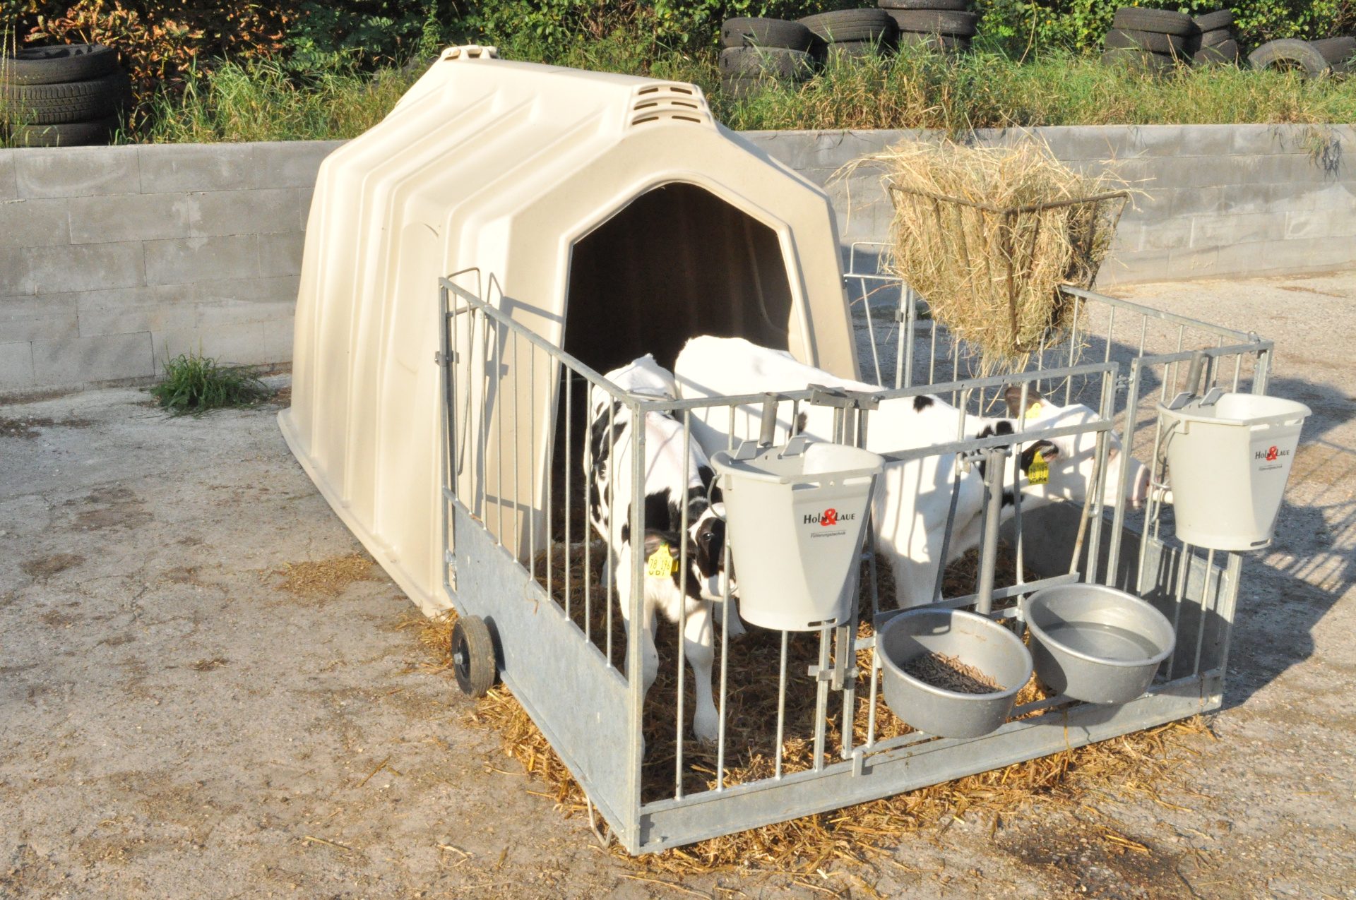
MULTIPOLYGON (((605 378, 633 394, 670 400, 677 396, 673 375, 650 355, 607 373, 605 378)), ((644 641, 641 656, 647 691, 659 671, 655 611, 662 610, 671 622, 678 622, 686 607, 683 652, 697 684, 693 732, 702 740, 715 740, 719 714, 711 693, 711 667, 715 660, 711 598, 720 596, 723 588, 725 523, 712 508, 708 493, 713 470, 701 446, 696 441, 683 441, 681 422, 662 412, 645 413, 645 534, 644 553, 637 560, 631 529, 631 411, 622 403, 607 392, 593 388, 589 397, 589 446, 584 451, 589 520, 607 541, 610 571, 628 640, 633 634, 631 605, 626 602, 631 596, 631 567, 645 567, 640 634, 644 641), (687 508, 686 535, 679 534, 683 506, 687 508), (687 546, 686 594, 679 569, 681 542, 687 546)), ((743 633, 738 622, 738 614, 731 615, 731 634, 743 633)))

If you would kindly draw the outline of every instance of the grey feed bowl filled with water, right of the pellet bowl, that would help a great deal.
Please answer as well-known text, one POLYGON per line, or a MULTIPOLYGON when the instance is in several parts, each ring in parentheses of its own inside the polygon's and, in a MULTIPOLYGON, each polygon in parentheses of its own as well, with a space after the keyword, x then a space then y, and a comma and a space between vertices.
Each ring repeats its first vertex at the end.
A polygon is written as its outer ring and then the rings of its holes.
POLYGON ((1089 703, 1128 703, 1142 695, 1176 645, 1162 613, 1104 584, 1036 591, 1022 614, 1040 680, 1089 703))

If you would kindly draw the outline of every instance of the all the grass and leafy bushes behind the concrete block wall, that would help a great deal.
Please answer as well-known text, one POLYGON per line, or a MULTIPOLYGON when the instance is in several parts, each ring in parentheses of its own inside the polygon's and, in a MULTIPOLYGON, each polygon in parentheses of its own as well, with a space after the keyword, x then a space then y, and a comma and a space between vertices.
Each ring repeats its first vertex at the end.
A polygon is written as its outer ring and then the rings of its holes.
MULTIPOLYGON (((1235 68, 1151 77, 1097 61, 1131 0, 975 0, 976 52, 843 61, 803 85, 736 102, 720 92, 716 30, 730 15, 795 18, 869 0, 0 0, 0 34, 122 50, 138 104, 127 142, 268 141, 361 134, 449 43, 500 56, 694 81, 735 129, 1352 122, 1356 79, 1306 84, 1235 68), (123 5, 123 1, 126 5, 123 5)), ((1351 0, 1147 0, 1230 5, 1245 43, 1351 31, 1351 0)), ((0 98, 3 104, 3 98, 0 98)), ((12 111, 11 111, 12 112, 12 111)), ((0 119, 7 118, 0 110, 0 119)), ((8 118, 14 118, 12 115, 8 118)), ((0 145, 4 136, 0 134, 0 145)))

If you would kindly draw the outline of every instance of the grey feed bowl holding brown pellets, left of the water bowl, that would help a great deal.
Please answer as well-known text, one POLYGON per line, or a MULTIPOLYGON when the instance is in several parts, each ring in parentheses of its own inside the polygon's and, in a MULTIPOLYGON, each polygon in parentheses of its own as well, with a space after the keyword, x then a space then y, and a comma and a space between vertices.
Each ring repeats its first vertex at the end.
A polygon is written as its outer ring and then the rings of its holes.
POLYGON ((885 703, 914 728, 940 737, 979 737, 1008 721, 1013 702, 1031 680, 1031 653, 1021 640, 987 617, 961 610, 917 609, 900 613, 877 636, 885 703), (1003 690, 960 694, 904 672, 923 653, 959 657, 1003 690))

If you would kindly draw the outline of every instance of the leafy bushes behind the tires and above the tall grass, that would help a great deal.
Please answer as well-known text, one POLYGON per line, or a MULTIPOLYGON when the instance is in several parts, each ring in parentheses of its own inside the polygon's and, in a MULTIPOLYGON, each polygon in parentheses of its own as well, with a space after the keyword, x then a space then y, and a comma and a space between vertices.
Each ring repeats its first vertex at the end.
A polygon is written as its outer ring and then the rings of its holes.
MULTIPOLYGON (((1014 58, 1096 49, 1125 3, 1191 14, 1227 5, 1245 46, 1356 26, 1351 0, 974 0, 983 14, 979 42, 1014 58)), ((862 4, 869 0, 0 0, 0 34, 20 45, 114 46, 149 92, 228 60, 270 60, 289 72, 374 70, 468 41, 559 57, 622 31, 658 56, 698 54, 715 46, 728 16, 799 18, 862 4)))

